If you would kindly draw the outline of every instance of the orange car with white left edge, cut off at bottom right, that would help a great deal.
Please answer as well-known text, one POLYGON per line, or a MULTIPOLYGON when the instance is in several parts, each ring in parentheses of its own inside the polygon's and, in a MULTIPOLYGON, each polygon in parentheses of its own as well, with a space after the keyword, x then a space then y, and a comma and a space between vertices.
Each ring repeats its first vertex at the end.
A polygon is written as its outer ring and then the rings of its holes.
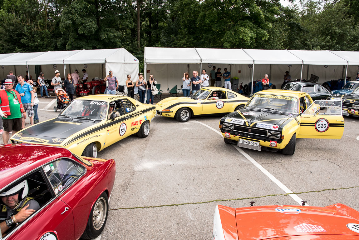
POLYGON ((213 240, 358 240, 359 212, 334 204, 327 207, 217 205, 213 240))

